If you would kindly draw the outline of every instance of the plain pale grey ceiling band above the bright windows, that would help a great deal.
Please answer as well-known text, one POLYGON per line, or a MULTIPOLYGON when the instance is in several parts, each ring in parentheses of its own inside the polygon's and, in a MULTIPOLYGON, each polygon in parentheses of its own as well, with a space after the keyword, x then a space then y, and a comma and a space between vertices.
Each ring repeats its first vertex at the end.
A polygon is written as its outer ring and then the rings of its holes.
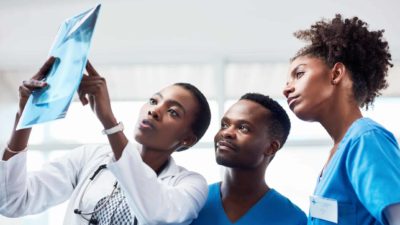
MULTIPOLYGON (((62 21, 96 5, 90 0, 0 0, 0 70, 31 68, 47 56, 62 21)), ((109 0, 102 9, 90 58, 132 63, 287 62, 302 46, 293 32, 335 13, 385 29, 400 59, 396 0, 109 0)))

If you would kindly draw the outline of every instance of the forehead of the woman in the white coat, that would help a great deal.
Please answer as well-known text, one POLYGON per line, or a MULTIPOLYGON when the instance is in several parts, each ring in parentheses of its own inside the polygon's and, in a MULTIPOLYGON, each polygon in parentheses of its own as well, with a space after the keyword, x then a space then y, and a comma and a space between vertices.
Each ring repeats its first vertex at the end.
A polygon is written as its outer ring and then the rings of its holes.
POLYGON ((193 94, 177 85, 171 85, 159 92, 164 101, 178 102, 187 113, 193 114, 199 108, 193 94))

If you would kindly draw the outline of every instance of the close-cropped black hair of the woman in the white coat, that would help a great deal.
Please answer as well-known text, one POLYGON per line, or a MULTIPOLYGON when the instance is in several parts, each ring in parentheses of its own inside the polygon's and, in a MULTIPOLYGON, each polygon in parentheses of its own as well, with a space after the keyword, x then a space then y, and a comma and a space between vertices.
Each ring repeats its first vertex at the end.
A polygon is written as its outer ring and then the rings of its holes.
POLYGON ((194 121, 192 123, 192 130, 194 135, 199 141, 204 133, 207 131, 208 126, 211 122, 211 110, 208 104, 207 98, 204 94, 194 85, 189 83, 175 83, 174 85, 184 88, 189 91, 197 100, 199 108, 197 109, 196 115, 194 116, 194 121))

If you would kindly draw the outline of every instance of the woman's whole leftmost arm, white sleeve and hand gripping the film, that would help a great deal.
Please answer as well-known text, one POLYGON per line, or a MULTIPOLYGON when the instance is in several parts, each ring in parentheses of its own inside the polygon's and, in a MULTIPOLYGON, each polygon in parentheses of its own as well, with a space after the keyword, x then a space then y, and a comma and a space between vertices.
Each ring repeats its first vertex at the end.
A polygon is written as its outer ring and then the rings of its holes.
POLYGON ((47 85, 40 80, 48 73, 54 60, 49 58, 35 76, 19 87, 19 110, 0 160, 0 214, 5 216, 41 212, 66 200, 76 185, 80 156, 76 159, 66 157, 45 165, 41 171, 28 173, 26 152, 21 150, 26 149, 31 129, 15 129, 31 92, 47 85))

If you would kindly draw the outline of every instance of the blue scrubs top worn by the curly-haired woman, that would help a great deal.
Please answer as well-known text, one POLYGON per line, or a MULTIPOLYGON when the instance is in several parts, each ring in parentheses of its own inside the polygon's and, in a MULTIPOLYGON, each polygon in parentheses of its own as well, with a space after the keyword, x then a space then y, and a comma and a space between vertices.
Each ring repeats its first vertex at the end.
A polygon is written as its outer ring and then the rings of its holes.
MULTIPOLYGON (((400 203, 400 150, 392 133, 356 120, 316 186, 315 196, 338 202, 338 224, 387 224, 384 209, 400 203)), ((334 224, 308 218, 308 224, 334 224)))

